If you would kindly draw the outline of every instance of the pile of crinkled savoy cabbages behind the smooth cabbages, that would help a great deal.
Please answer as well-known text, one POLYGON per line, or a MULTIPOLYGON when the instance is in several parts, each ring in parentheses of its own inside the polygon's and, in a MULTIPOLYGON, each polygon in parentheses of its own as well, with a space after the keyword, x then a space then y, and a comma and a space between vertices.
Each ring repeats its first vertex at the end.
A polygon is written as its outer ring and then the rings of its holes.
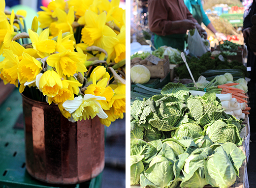
POLYGON ((185 85, 168 83, 160 95, 133 102, 130 137, 153 141, 208 135, 213 142, 241 145, 241 122, 224 112, 214 92, 192 96, 185 85))

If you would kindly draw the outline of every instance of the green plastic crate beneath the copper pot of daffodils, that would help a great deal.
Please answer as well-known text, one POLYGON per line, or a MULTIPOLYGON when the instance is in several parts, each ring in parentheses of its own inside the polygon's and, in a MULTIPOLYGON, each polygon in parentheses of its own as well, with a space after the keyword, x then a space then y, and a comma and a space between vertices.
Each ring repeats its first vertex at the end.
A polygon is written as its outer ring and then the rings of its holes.
POLYGON ((101 188, 102 173, 75 185, 46 184, 30 176, 25 164, 24 130, 19 129, 22 113, 22 97, 15 89, 0 106, 0 188, 101 188))

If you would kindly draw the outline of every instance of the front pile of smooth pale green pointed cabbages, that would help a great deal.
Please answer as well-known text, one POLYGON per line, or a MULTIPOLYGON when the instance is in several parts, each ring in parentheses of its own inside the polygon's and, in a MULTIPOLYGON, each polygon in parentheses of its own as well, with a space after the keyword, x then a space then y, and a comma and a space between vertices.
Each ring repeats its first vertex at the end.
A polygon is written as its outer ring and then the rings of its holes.
POLYGON ((235 144, 214 144, 208 136, 131 139, 130 149, 130 185, 141 188, 228 188, 246 158, 235 144))

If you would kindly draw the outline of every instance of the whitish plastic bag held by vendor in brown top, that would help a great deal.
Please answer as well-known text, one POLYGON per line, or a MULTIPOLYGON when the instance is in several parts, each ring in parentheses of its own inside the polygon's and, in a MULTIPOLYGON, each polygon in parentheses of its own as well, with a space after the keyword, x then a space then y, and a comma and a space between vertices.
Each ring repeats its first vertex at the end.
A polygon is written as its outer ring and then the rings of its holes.
POLYGON ((193 36, 191 36, 189 32, 188 47, 190 52, 196 56, 202 56, 202 54, 205 54, 208 51, 210 51, 209 46, 206 46, 204 44, 204 41, 205 41, 204 38, 200 36, 196 28, 194 30, 193 36))

